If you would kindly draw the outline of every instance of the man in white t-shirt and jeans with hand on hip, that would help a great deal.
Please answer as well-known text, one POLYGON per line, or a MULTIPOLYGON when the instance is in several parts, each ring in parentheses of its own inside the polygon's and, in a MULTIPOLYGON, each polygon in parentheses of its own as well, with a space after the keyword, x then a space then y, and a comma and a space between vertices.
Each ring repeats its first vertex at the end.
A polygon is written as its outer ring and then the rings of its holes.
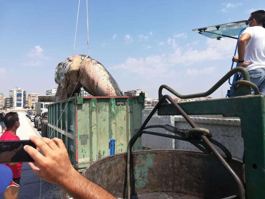
POLYGON ((238 57, 233 59, 249 71, 250 81, 265 95, 265 11, 251 13, 246 24, 238 41, 238 57))

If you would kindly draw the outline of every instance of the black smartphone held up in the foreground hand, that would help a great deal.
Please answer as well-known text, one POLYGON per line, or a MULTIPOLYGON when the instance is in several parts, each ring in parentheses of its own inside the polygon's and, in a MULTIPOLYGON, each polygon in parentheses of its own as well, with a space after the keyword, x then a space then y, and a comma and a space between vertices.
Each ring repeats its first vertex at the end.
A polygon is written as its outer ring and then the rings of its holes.
POLYGON ((36 149, 36 145, 30 140, 0 141, 0 163, 34 162, 24 150, 25 145, 36 149))

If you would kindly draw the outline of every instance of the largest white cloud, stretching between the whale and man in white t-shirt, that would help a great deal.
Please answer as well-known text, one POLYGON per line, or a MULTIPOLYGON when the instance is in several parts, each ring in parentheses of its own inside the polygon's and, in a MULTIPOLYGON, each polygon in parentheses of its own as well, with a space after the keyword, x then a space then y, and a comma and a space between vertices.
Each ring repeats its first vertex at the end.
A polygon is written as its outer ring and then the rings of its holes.
MULTIPOLYGON (((168 43, 173 45, 174 39, 168 38, 168 43)), ((213 40, 207 38, 206 48, 203 50, 184 50, 181 47, 174 48, 172 53, 162 55, 151 55, 146 58, 132 58, 128 57, 125 63, 110 66, 112 70, 123 69, 124 74, 136 73, 136 74, 148 74, 152 77, 158 77, 161 75, 172 75, 178 73, 179 70, 185 69, 185 66, 196 63, 202 63, 210 60, 229 59, 232 57, 236 40, 224 38, 219 40, 213 40)), ((189 74, 207 74, 207 72, 213 72, 214 67, 198 68, 198 69, 185 69, 189 74)))

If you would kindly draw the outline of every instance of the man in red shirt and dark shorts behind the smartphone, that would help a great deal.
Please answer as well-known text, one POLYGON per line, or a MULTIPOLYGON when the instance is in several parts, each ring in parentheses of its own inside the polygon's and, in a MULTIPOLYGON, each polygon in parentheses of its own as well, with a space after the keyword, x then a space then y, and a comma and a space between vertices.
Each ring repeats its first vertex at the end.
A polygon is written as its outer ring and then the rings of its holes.
MULTIPOLYGON (((16 136, 16 130, 20 126, 18 113, 7 113, 4 118, 4 123, 7 127, 7 130, 1 135, 0 141, 20 140, 19 137, 16 136)), ((5 163, 4 165, 7 165, 13 173, 12 181, 7 187, 7 189, 4 191, 5 199, 17 199, 20 185, 20 173, 22 163, 5 163)))

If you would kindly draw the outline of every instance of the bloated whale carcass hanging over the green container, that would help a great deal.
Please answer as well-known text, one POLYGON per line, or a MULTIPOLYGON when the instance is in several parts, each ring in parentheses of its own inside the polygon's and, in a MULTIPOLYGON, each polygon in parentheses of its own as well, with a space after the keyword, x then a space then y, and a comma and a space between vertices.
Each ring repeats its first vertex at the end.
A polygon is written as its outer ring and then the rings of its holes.
POLYGON ((67 99, 81 87, 92 96, 122 96, 120 87, 107 69, 85 55, 73 55, 55 69, 58 84, 55 101, 67 99))

